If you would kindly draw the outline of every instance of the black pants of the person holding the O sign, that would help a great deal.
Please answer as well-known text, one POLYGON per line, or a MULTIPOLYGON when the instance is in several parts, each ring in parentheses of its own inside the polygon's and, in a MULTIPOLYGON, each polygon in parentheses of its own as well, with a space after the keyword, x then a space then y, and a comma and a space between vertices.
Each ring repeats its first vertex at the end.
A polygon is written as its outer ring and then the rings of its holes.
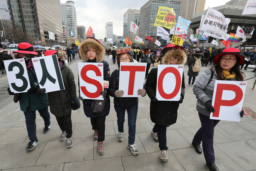
POLYGON ((153 132, 157 132, 160 150, 168 150, 166 146, 166 127, 162 125, 154 125, 153 132))

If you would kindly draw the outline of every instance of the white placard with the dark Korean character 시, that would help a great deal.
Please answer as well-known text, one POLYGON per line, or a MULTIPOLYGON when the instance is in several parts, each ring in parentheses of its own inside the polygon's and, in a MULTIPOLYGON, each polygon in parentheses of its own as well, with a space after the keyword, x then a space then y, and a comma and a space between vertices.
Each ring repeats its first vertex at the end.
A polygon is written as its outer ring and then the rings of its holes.
POLYGON ((46 93, 65 89, 56 55, 32 59, 40 88, 46 93))

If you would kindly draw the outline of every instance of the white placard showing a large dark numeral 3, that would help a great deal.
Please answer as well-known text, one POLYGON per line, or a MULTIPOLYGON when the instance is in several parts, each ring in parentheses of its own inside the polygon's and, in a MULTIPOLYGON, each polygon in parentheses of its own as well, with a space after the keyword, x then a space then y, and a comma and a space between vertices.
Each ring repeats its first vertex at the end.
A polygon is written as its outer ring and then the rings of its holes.
POLYGON ((4 60, 10 90, 14 93, 24 93, 30 89, 28 72, 24 59, 4 60))

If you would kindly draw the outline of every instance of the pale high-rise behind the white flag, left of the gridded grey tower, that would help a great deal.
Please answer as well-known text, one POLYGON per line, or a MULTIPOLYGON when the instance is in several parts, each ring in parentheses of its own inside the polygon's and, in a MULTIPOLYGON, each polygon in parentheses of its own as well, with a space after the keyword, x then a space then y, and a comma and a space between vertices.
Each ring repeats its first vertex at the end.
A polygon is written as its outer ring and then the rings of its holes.
MULTIPOLYGON (((140 19, 140 10, 128 9, 124 13, 124 29, 123 29, 123 38, 127 37, 132 42, 134 41, 134 33, 130 32, 131 21, 140 19)), ((136 23, 137 24, 137 23, 136 23)), ((138 26, 138 24, 137 24, 138 26)))

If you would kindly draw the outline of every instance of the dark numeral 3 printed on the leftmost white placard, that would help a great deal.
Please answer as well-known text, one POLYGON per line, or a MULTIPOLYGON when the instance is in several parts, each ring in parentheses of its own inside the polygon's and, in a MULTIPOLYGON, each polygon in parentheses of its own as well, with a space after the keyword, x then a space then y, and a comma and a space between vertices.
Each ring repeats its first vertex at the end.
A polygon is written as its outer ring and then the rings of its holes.
POLYGON ((23 76, 24 74, 24 69, 23 69, 23 66, 22 64, 20 64, 20 62, 11 62, 9 67, 8 67, 8 70, 9 71, 13 71, 13 68, 14 67, 18 67, 20 72, 18 74, 16 74, 16 78, 17 79, 20 79, 22 80, 23 82, 23 85, 21 87, 18 87, 15 83, 11 83, 12 85, 12 88, 15 89, 16 91, 25 91, 25 89, 28 87, 28 81, 27 79, 23 76))

